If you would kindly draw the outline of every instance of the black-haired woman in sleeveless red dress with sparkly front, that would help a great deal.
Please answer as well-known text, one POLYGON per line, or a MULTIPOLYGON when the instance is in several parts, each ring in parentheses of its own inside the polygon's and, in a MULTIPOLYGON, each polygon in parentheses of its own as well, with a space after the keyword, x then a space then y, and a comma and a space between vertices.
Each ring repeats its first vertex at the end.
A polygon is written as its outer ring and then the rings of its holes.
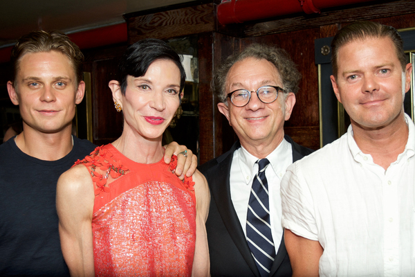
POLYGON ((124 115, 122 135, 57 184, 71 275, 208 276, 208 185, 199 171, 178 179, 176 159, 165 163, 161 145, 183 97, 180 57, 161 40, 143 39, 127 48, 119 71, 109 87, 124 115))

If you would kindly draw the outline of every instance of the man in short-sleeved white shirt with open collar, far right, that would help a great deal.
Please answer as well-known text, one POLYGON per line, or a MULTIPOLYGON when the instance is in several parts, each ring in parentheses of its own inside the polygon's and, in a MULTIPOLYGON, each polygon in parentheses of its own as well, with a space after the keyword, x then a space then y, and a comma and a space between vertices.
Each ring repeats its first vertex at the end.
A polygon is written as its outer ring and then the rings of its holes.
POLYGON ((282 181, 282 223, 293 276, 415 275, 415 128, 398 32, 374 22, 332 42, 335 96, 347 134, 293 164, 282 181))

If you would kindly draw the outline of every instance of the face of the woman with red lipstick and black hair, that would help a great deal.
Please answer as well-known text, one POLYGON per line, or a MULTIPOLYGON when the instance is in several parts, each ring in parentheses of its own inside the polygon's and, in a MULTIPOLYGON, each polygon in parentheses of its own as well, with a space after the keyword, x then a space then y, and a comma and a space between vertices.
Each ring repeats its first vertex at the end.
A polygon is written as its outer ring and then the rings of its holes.
POLYGON ((181 74, 174 62, 156 60, 144 76, 128 75, 124 95, 118 82, 111 81, 113 98, 122 106, 124 133, 161 139, 180 105, 180 80, 181 74))

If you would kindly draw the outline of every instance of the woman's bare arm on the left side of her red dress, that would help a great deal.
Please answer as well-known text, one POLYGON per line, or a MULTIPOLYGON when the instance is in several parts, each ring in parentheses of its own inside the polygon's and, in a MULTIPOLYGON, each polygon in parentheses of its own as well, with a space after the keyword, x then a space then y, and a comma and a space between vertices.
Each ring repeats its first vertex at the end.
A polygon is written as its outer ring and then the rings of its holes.
POLYGON ((62 253, 71 276, 94 276, 92 179, 88 170, 75 166, 57 181, 56 206, 62 253))

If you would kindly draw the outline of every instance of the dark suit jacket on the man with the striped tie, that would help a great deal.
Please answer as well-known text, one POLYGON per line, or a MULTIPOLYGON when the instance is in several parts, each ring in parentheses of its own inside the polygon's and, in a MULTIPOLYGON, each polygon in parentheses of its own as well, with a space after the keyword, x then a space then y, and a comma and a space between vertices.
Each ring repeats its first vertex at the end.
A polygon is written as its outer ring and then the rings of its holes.
MULTIPOLYGON (((293 161, 310 154, 304 148, 284 136, 293 148, 293 161)), ((210 187, 210 210, 206 222, 212 276, 259 276, 257 265, 250 253, 248 242, 237 213, 230 199, 230 165, 233 152, 240 148, 239 141, 225 154, 204 163, 199 170, 205 175, 210 187)), ((291 276, 290 259, 284 244, 284 236, 271 268, 270 276, 291 276)))

